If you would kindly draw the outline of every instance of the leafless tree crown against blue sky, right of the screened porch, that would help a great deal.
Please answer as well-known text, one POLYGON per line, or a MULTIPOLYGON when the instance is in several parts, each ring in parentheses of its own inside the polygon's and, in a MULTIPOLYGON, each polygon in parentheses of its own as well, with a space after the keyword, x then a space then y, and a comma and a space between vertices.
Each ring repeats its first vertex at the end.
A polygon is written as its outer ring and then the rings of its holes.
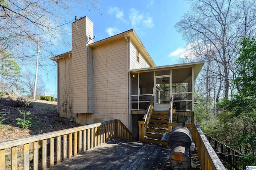
MULTIPOLYGON (((197 43, 197 52, 201 59, 206 61, 205 77, 209 73, 215 78, 216 88, 210 88, 206 83, 207 96, 210 94, 218 101, 220 97, 228 97, 232 86, 229 81, 233 79, 233 65, 238 44, 243 36, 255 34, 254 0, 190 0, 192 8, 186 12, 176 29, 188 43, 197 43), (207 49, 206 47, 211 47, 207 49), (198 52, 200 51, 200 52, 198 52), (211 65, 211 66, 210 66, 211 65), (218 82, 218 83, 217 83, 218 82), (213 90, 212 92, 210 92, 213 90)), ((197 58, 200 58, 197 57, 197 58)), ((194 58, 196 60, 196 58, 194 58)), ((209 81, 208 78, 205 79, 209 81)))

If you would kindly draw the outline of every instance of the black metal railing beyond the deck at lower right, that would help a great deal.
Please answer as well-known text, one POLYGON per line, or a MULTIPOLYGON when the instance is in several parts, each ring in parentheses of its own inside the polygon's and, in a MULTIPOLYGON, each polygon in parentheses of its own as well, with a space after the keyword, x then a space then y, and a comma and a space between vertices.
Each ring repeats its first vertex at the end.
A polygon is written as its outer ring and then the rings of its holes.
POLYGON ((245 166, 239 166, 241 158, 244 156, 240 152, 228 147, 227 145, 219 142, 211 136, 204 134, 211 144, 216 154, 220 157, 220 160, 230 170, 245 170, 245 166))

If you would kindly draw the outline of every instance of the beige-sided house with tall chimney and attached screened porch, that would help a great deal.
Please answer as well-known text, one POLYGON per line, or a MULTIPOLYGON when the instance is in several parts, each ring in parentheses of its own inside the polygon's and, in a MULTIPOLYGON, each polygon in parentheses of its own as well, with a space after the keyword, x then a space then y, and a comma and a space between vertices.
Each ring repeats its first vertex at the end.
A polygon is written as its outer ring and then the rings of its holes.
POLYGON ((193 121, 194 81, 204 62, 158 66, 135 31, 94 42, 93 22, 72 23, 72 51, 57 62, 58 113, 85 125, 120 119, 136 138, 150 99, 154 110, 168 111, 171 96, 177 115, 193 121))

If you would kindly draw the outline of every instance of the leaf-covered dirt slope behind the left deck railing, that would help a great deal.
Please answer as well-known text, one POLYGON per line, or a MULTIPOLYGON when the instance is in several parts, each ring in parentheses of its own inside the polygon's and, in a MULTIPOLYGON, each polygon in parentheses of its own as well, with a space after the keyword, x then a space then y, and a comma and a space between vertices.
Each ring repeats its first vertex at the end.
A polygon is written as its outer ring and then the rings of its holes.
POLYGON ((15 104, 1 100, 0 121, 2 119, 5 120, 0 123, 0 142, 80 126, 58 117, 56 101, 31 101, 26 107, 17 107, 15 104), (25 129, 17 124, 16 118, 24 118, 19 110, 31 113, 25 117, 31 118, 30 128, 25 129))

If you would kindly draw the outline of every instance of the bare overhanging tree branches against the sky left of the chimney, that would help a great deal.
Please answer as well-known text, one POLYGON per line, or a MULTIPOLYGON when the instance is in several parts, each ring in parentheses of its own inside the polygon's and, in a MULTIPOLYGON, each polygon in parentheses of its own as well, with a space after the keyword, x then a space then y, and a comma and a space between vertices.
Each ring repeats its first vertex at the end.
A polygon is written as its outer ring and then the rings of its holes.
MULTIPOLYGON (((75 20, 74 7, 90 11, 100 5, 100 0, 0 0, 0 55, 6 51, 18 65, 34 66, 36 52, 32 51, 39 45, 39 60, 47 64, 56 51, 71 46, 66 24, 75 20), (74 18, 67 20, 68 16, 74 18)), ((44 70, 44 65, 39 67, 44 70)))

